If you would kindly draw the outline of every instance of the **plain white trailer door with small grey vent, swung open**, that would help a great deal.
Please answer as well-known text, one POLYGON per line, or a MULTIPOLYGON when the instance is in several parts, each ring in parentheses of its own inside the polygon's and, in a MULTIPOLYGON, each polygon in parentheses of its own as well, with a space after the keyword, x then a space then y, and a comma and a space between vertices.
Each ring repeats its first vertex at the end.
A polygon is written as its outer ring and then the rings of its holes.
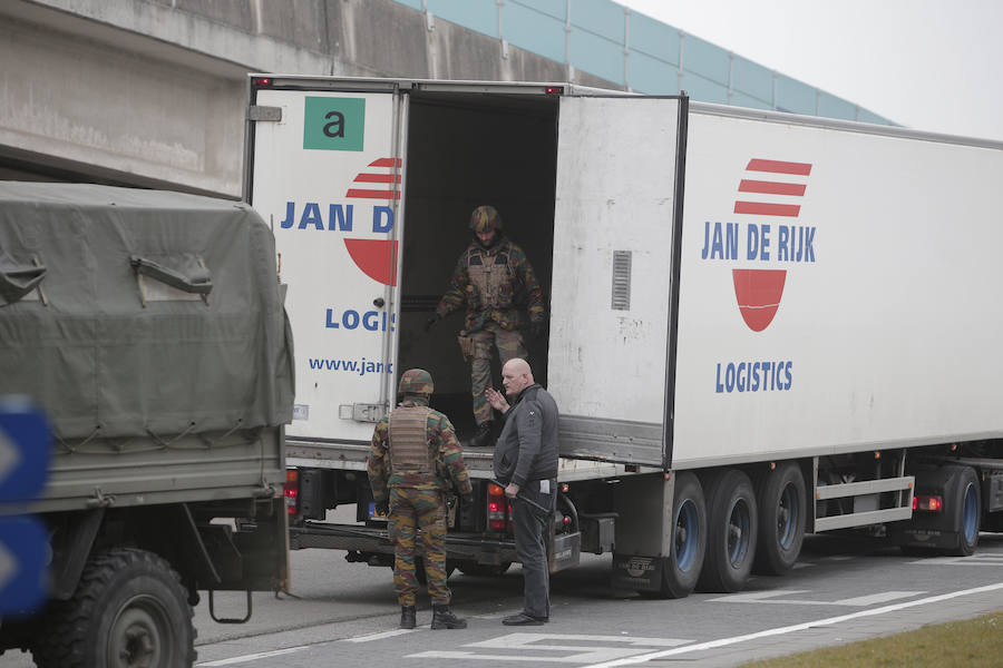
POLYGON ((561 99, 548 390, 563 456, 671 458, 685 104, 561 99))

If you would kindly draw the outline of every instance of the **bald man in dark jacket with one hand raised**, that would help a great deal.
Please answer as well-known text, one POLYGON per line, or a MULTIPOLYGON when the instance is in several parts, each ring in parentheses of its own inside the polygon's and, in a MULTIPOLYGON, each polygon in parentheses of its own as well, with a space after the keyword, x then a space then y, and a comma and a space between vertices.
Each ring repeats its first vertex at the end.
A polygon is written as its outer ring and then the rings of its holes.
POLYGON ((513 404, 488 387, 491 407, 505 426, 495 445, 495 478, 512 499, 516 554, 523 563, 523 611, 506 617, 506 626, 537 626, 551 618, 547 539, 557 500, 557 404, 533 381, 525 360, 501 367, 501 384, 513 404))

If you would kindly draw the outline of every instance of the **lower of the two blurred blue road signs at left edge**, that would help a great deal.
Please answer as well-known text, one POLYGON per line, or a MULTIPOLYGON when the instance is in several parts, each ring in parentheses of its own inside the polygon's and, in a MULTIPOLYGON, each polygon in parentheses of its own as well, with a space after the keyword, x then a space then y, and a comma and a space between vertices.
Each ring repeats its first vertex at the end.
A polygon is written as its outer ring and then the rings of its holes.
POLYGON ((38 610, 46 600, 49 532, 30 515, 0 518, 0 617, 38 610))

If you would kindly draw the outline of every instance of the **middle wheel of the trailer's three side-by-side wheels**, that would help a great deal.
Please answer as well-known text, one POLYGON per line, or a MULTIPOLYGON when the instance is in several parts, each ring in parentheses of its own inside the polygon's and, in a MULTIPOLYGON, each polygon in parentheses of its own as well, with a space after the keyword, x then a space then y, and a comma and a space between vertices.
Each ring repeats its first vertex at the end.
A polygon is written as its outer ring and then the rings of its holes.
POLYGON ((759 513, 749 477, 729 469, 707 478, 707 553, 697 588, 730 593, 749 580, 756 558, 759 513))

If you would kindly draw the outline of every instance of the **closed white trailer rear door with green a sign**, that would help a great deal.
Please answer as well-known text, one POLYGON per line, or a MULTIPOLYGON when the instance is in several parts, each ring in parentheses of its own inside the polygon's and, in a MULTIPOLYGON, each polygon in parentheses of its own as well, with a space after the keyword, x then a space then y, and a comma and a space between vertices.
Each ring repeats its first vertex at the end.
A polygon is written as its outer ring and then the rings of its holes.
POLYGON ((369 442, 393 397, 407 96, 252 85, 245 197, 271 220, 296 346, 293 440, 369 442))

